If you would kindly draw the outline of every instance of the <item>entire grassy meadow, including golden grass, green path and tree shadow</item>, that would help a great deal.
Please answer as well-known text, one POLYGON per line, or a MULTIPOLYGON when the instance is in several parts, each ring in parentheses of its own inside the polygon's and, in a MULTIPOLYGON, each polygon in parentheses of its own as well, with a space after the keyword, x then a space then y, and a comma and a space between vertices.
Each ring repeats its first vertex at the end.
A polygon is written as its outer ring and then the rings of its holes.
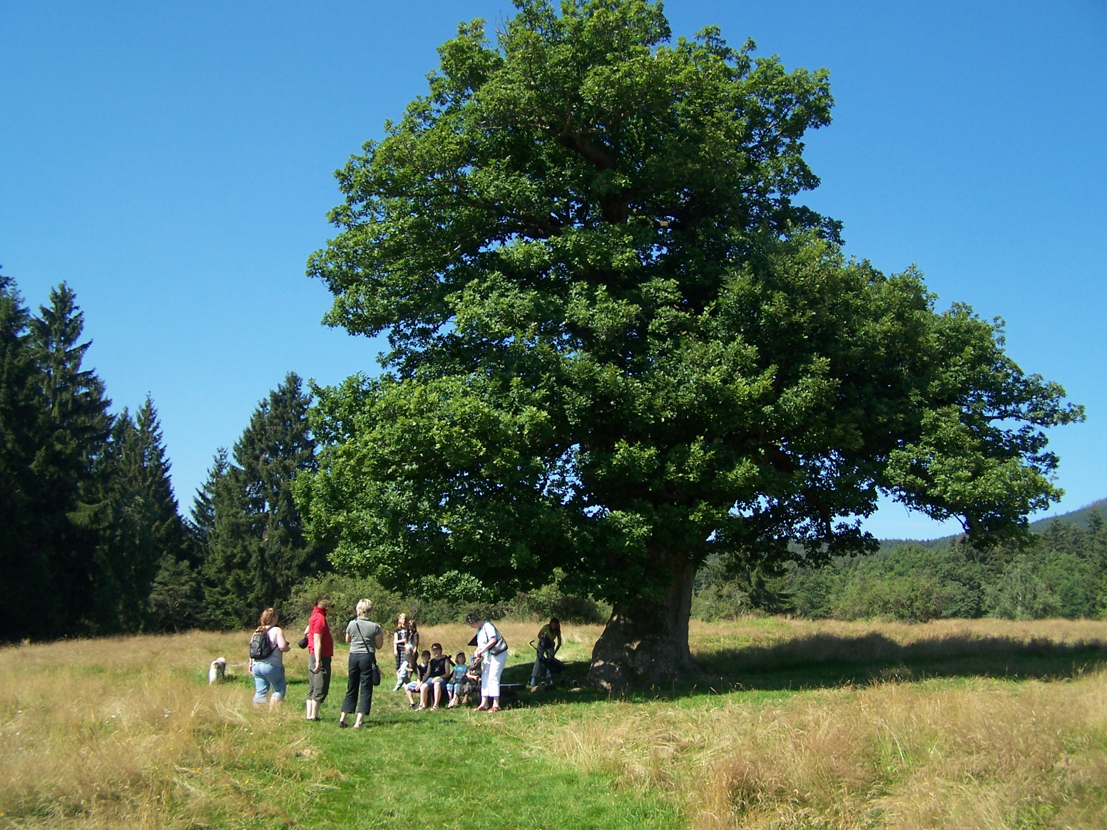
MULTIPOLYGON (((500 627, 523 681, 537 626, 500 627)), ((570 679, 599 632, 566 629, 570 679)), ((464 626, 422 634, 469 651, 464 626)), ((490 715, 411 712, 385 672, 363 730, 334 723, 344 652, 307 723, 306 652, 255 708, 247 641, 0 651, 0 828, 1107 827, 1103 622, 693 622, 695 684, 490 715)))

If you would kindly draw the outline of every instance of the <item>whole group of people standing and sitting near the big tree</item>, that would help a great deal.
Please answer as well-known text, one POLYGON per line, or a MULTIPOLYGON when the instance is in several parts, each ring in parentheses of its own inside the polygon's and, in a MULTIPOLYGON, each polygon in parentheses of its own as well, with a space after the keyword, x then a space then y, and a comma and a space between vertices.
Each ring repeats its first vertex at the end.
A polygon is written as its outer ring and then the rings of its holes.
MULTIPOLYGON (((331 635, 327 614, 330 601, 320 598, 311 610, 311 616, 300 641, 308 649, 308 699, 304 717, 322 720, 319 707, 330 692, 331 661, 334 656, 334 640, 331 635)), ((346 727, 348 715, 356 713, 353 728, 362 728, 365 716, 373 705, 373 687, 380 683, 377 650, 384 646, 384 630, 370 620, 373 611, 371 600, 358 602, 356 616, 349 622, 344 640, 350 646, 349 674, 345 698, 339 715, 339 726, 346 727)), ((250 674, 254 676, 254 703, 270 706, 280 705, 287 691, 283 655, 291 649, 288 637, 278 624, 277 612, 268 608, 261 612, 258 627, 250 640, 250 674)), ((415 709, 436 709, 446 698, 446 708, 465 705, 469 695, 479 689, 478 712, 498 712, 500 698, 500 675, 507 665, 507 641, 489 620, 478 614, 468 614, 466 624, 476 630, 470 642, 476 649, 469 660, 465 652, 453 657, 443 653, 441 643, 433 643, 428 650, 420 652, 418 627, 414 620, 401 614, 392 636, 395 658, 396 685, 407 695, 407 703, 415 709), (418 702, 416 703, 416 695, 418 702)), ((538 634, 537 657, 531 673, 531 688, 540 687, 540 678, 548 676, 548 658, 561 647, 561 626, 551 619, 538 634)))

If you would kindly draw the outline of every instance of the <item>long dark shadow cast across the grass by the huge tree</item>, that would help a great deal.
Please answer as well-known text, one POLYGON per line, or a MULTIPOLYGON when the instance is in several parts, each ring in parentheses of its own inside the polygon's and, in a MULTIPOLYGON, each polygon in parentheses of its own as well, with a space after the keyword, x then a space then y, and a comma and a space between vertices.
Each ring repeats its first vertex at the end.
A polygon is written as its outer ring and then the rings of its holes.
MULTIPOLYGON (((1107 642, 949 634, 899 643, 879 633, 819 633, 773 645, 712 649, 695 657, 701 668, 699 677, 671 686, 629 689, 619 696, 670 699, 722 692, 799 692, 956 677, 1059 681, 1107 666, 1107 642)), ((521 682, 524 671, 529 676, 529 666, 511 666, 505 681, 521 682)), ((520 704, 611 696, 601 689, 580 687, 587 674, 587 661, 567 663, 563 685, 538 695, 524 693, 519 695, 520 704)))

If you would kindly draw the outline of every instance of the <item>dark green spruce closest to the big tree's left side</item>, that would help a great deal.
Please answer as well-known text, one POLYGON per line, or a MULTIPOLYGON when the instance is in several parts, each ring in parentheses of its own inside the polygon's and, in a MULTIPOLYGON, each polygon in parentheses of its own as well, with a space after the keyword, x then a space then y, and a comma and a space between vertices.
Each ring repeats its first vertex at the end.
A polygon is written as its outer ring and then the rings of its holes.
POLYGON ((214 509, 194 508, 197 525, 210 516, 204 575, 207 610, 220 625, 248 624, 325 561, 325 550, 304 538, 291 488, 299 473, 315 469, 310 402, 290 372, 258 404, 235 444, 234 464, 213 479, 214 509))

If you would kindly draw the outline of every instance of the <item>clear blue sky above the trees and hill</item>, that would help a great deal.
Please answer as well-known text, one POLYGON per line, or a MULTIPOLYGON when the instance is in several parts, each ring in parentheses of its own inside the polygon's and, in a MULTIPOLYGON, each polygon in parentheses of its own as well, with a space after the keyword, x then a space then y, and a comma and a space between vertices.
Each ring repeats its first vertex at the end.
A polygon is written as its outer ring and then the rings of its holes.
MULTIPOLYGON (((0 264, 32 305, 68 280, 115 408, 149 392, 182 507, 289 370, 333 383, 380 344, 324 329, 303 276, 331 176, 425 89, 459 20, 507 2, 0 3, 0 264)), ((847 250, 915 262, 940 304, 1007 321, 1065 385, 1061 510, 1107 496, 1107 3, 666 3, 830 70, 810 136, 847 250)), ((941 528, 882 508, 882 537, 941 528)))

